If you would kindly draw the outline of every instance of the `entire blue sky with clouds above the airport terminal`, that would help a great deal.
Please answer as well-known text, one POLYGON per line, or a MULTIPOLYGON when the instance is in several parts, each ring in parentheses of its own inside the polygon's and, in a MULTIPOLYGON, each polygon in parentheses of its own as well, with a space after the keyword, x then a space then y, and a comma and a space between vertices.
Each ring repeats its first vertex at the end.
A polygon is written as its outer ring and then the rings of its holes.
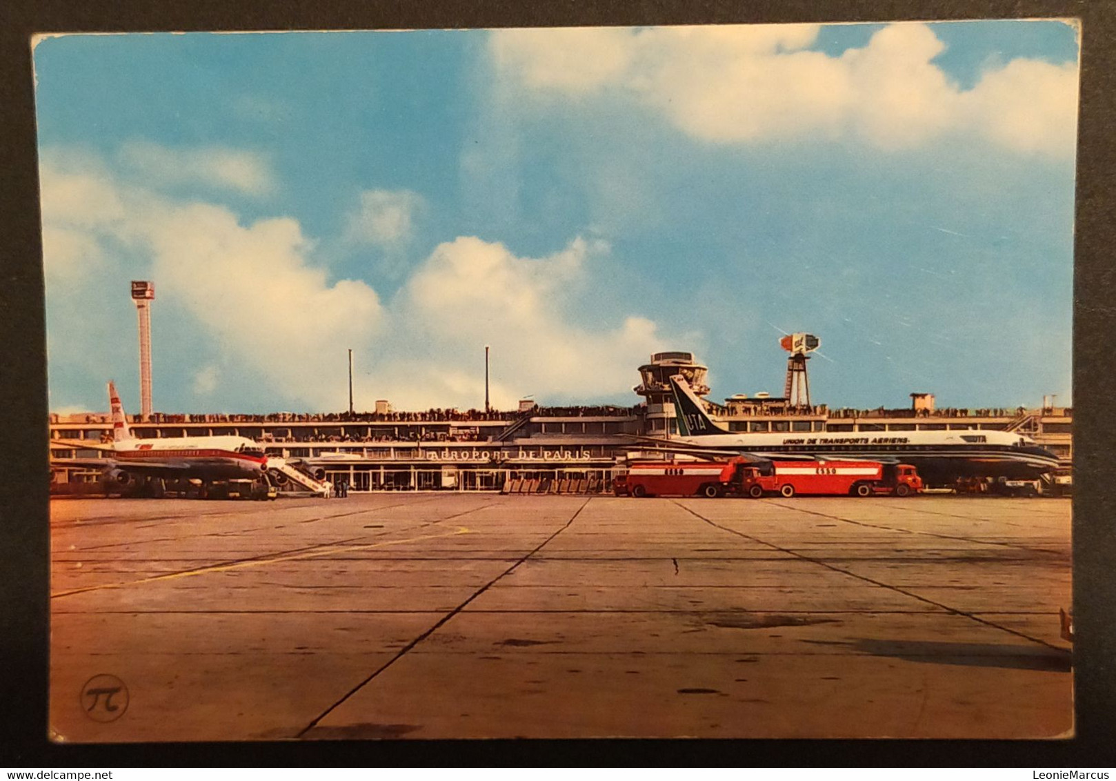
POLYGON ((1057 21, 67 36, 35 49, 52 409, 1069 401, 1057 21), (131 399, 129 399, 131 396, 131 399))

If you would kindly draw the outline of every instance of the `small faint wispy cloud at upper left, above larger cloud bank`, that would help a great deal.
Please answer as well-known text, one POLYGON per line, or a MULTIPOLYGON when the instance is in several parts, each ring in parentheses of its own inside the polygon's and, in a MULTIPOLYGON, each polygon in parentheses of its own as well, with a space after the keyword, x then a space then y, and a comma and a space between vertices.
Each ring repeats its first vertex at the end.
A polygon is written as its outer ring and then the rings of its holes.
POLYGON ((261 155, 225 146, 170 148, 137 141, 121 147, 119 162, 155 186, 204 184, 247 195, 276 190, 275 175, 261 155))

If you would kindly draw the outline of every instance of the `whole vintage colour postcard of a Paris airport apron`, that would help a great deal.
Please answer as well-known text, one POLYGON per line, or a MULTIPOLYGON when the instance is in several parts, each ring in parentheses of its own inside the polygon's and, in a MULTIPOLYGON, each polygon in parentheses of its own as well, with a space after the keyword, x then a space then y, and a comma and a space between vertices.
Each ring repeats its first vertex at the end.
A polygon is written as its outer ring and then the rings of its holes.
POLYGON ((51 740, 1071 735, 1079 33, 36 39, 51 740))

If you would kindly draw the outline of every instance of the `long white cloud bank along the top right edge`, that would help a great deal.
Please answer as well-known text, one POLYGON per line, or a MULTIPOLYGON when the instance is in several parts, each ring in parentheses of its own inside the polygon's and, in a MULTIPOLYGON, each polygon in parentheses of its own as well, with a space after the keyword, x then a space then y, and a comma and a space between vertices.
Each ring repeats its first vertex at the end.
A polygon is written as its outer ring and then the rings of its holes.
POLYGON ((859 137, 904 148, 951 132, 1024 153, 1072 154, 1077 68, 1018 59, 961 90, 932 61, 922 23, 888 25, 838 57, 810 51, 818 26, 498 30, 498 73, 527 95, 612 90, 714 143, 859 137))

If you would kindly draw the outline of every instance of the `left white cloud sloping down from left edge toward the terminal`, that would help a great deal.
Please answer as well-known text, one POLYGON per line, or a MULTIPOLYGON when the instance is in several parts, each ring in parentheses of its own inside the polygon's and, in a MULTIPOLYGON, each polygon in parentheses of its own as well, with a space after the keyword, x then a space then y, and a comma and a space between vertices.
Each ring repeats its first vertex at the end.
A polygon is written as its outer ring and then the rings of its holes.
MULTIPOLYGON (((158 301, 189 312, 230 361, 258 370, 283 396, 340 406, 346 368, 337 355, 369 344, 382 308, 364 282, 330 281, 312 264, 314 244, 295 220, 242 225, 223 206, 170 199, 49 152, 40 180, 44 232, 66 237, 46 242, 48 269, 64 269, 75 247, 127 247, 151 259, 129 270, 150 274, 158 301)), ((48 281, 54 298, 87 280, 54 273, 48 281)), ((86 336, 87 351, 103 354, 104 335, 86 336)), ((195 388, 205 386, 195 377, 195 388)))

